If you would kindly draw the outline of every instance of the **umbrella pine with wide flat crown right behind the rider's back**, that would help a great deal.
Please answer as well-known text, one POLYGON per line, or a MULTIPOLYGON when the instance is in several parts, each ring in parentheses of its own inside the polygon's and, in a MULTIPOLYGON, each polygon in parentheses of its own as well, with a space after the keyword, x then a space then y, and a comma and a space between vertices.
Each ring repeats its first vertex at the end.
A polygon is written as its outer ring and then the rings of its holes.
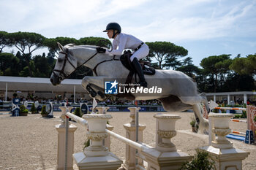
POLYGON ((181 63, 178 58, 187 55, 188 51, 184 47, 174 45, 171 42, 146 42, 150 51, 149 57, 155 58, 159 63, 159 69, 176 69, 181 63))

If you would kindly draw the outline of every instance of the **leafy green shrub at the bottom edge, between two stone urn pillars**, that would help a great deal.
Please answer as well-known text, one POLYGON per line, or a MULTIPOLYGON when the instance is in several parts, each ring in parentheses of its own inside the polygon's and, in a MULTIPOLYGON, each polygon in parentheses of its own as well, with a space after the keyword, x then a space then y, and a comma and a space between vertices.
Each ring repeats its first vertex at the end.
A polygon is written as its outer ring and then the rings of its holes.
POLYGON ((192 161, 184 163, 180 170, 211 170, 214 169, 214 161, 211 160, 208 152, 196 150, 192 161))

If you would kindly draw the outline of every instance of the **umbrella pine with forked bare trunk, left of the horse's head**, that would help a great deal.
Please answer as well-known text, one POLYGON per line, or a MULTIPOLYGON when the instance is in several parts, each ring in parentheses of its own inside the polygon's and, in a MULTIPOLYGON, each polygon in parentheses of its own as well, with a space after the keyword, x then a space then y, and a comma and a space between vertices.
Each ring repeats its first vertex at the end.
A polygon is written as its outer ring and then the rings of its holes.
POLYGON ((43 47, 42 42, 45 40, 45 37, 37 34, 37 33, 30 33, 30 32, 15 32, 9 34, 9 39, 15 47, 22 53, 23 57, 26 60, 26 64, 29 69, 29 76, 32 77, 30 61, 32 53, 43 47))

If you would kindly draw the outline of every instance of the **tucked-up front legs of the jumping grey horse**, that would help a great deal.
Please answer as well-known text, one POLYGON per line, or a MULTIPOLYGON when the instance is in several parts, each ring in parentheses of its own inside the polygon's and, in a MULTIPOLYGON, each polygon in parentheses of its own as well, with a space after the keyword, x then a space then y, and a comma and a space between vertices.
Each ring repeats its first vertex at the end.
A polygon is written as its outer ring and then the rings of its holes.
POLYGON ((90 93, 90 96, 104 101, 107 96, 104 93, 104 79, 106 77, 83 77, 82 86, 90 93))

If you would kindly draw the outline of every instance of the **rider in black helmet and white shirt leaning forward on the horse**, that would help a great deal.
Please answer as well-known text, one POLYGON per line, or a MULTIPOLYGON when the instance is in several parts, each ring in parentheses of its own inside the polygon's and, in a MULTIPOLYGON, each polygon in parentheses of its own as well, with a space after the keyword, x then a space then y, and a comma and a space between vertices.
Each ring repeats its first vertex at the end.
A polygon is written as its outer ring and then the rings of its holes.
POLYGON ((113 50, 108 51, 104 48, 97 47, 97 52, 121 55, 123 53, 123 50, 125 49, 133 50, 133 54, 130 58, 130 60, 132 61, 132 66, 136 69, 136 72, 140 77, 140 85, 146 88, 147 82, 145 80, 139 60, 148 55, 148 45, 146 45, 144 42, 142 42, 135 36, 121 33, 121 26, 118 23, 108 23, 106 30, 103 32, 107 32, 108 37, 110 39, 113 39, 113 50))

